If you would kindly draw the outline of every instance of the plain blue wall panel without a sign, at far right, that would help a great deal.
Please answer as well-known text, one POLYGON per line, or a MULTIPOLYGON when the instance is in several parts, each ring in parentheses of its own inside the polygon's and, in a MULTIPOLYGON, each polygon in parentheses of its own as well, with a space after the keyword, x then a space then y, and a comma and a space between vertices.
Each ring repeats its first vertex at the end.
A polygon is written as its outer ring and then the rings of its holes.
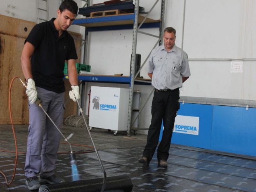
POLYGON ((256 109, 214 106, 211 149, 256 156, 256 109))

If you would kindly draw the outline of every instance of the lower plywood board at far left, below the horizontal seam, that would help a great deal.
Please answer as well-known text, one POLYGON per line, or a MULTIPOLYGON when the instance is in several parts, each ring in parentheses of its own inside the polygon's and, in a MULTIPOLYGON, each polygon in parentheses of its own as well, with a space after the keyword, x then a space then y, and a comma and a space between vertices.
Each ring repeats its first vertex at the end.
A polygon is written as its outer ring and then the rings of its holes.
MULTIPOLYGON (((9 87, 12 79, 19 76, 24 79, 21 71, 19 47, 22 47, 24 39, 13 36, 0 35, 1 45, 4 48, 1 52, 0 59, 0 122, 2 124, 10 124, 8 95, 9 87)), ((11 89, 11 109, 13 111, 13 122, 15 124, 24 124, 27 122, 28 107, 25 88, 16 79, 11 89)))

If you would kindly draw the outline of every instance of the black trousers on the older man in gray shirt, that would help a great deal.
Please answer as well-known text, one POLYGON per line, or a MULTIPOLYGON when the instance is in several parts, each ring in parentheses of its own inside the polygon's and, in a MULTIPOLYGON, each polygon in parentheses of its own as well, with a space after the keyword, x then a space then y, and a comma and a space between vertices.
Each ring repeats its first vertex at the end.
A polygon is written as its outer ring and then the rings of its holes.
POLYGON ((164 130, 162 140, 157 149, 157 159, 167 160, 173 134, 174 120, 180 109, 180 90, 168 90, 166 92, 155 90, 152 100, 152 120, 147 134, 147 144, 143 156, 151 161, 159 142, 161 124, 163 121, 164 130))

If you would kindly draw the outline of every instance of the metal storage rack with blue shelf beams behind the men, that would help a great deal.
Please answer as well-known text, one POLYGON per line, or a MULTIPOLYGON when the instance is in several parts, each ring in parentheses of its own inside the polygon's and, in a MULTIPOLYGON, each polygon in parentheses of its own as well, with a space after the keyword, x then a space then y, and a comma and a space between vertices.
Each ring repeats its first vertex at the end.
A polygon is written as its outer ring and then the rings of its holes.
MULTIPOLYGON (((133 45, 132 45, 132 56, 130 64, 130 76, 97 76, 97 75, 84 75, 78 76, 78 80, 84 82, 101 82, 101 83, 127 83, 129 84, 129 107, 128 107, 128 126, 127 135, 130 136, 131 132, 131 121, 132 121, 132 105, 133 105, 133 87, 134 84, 145 84, 151 85, 149 81, 136 80, 137 75, 146 63, 149 55, 145 59, 145 62, 141 65, 140 69, 135 74, 135 59, 136 59, 136 46, 137 46, 137 33, 142 33, 148 36, 153 36, 158 38, 156 45, 161 45, 162 33, 163 33, 163 21, 164 21, 164 9, 165 0, 161 0, 161 13, 160 19, 154 20, 149 19, 148 15, 152 12, 152 9, 160 0, 156 0, 149 12, 145 12, 145 16, 139 14, 139 4, 140 0, 134 0, 134 13, 132 14, 121 14, 108 17, 92 17, 92 18, 82 18, 73 21, 73 25, 85 26, 85 40, 88 39, 88 32, 91 31, 102 31, 102 30, 120 30, 120 29, 133 29, 133 45), (159 36, 152 35, 150 33, 145 33, 140 31, 140 28, 159 28, 159 36)), ((154 48, 152 47, 152 48, 154 48)), ((86 62, 87 55, 87 43, 84 43, 84 63, 86 62)), ((150 54, 150 53, 149 53, 150 54)), ((65 77, 66 78, 66 77, 65 77)), ((151 95, 151 94, 150 94, 151 95)), ((143 107, 142 107, 143 108, 143 107)), ((137 116, 138 118, 138 116, 137 116)))

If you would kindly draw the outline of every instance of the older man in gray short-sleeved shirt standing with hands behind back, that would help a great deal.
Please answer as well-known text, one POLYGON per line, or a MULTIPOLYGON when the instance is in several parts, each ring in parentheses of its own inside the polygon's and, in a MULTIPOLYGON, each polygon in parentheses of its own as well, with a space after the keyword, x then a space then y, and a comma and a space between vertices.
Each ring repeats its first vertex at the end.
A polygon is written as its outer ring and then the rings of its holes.
POLYGON ((158 166, 167 167, 167 159, 173 134, 174 120, 180 109, 180 90, 190 76, 187 53, 175 45, 176 30, 164 29, 164 45, 152 50, 148 63, 148 75, 155 88, 152 100, 152 120, 147 144, 139 162, 149 166, 159 141, 161 123, 164 130, 157 149, 158 166))

